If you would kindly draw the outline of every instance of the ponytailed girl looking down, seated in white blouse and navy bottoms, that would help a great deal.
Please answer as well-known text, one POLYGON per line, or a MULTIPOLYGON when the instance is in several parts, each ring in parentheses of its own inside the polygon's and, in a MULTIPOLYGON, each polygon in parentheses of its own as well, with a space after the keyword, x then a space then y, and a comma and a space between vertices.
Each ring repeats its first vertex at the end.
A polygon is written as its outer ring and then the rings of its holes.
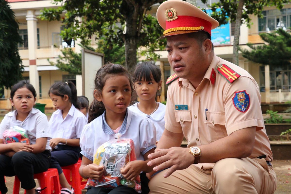
POLYGON ((87 119, 78 109, 77 89, 74 83, 56 82, 49 89, 49 97, 58 109, 49 120, 52 131, 50 146, 52 147, 52 162, 50 168, 57 168, 61 194, 74 193, 61 166, 74 164, 80 157, 79 138, 87 119))

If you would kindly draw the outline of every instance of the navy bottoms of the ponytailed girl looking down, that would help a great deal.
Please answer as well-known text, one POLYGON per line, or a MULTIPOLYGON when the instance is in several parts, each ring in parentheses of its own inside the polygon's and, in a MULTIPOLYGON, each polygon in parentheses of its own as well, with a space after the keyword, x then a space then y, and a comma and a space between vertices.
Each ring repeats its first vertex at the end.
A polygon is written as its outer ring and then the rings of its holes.
POLYGON ((52 151, 52 161, 49 168, 58 169, 58 174, 62 174, 61 166, 68 166, 77 163, 80 157, 80 147, 68 145, 58 145, 57 149, 52 151))

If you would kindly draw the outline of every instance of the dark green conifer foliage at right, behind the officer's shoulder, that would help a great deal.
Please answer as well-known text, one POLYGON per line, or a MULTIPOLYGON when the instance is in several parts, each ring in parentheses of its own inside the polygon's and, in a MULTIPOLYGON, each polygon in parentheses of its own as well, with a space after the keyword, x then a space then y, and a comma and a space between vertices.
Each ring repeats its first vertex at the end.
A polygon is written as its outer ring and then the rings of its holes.
POLYGON ((241 49, 242 56, 263 65, 287 66, 291 64, 291 35, 283 29, 272 33, 261 33, 260 37, 267 44, 247 45, 251 50, 241 49))

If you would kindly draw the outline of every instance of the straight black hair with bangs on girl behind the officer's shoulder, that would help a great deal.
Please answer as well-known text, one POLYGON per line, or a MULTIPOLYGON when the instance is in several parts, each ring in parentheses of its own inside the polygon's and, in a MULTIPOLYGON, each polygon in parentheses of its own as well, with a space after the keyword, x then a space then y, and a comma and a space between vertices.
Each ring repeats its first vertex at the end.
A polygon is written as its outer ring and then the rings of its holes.
POLYGON ((159 83, 161 81, 162 72, 157 65, 152 62, 145 61, 136 66, 133 73, 133 82, 151 81, 152 78, 159 83))

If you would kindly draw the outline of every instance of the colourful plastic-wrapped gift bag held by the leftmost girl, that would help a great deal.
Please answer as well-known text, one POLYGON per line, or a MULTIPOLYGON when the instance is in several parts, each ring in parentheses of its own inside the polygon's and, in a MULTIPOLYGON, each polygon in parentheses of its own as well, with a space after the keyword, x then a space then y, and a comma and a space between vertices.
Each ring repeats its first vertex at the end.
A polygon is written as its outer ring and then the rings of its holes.
POLYGON ((26 130, 18 126, 5 130, 3 132, 3 140, 4 143, 20 142, 30 144, 26 130))

